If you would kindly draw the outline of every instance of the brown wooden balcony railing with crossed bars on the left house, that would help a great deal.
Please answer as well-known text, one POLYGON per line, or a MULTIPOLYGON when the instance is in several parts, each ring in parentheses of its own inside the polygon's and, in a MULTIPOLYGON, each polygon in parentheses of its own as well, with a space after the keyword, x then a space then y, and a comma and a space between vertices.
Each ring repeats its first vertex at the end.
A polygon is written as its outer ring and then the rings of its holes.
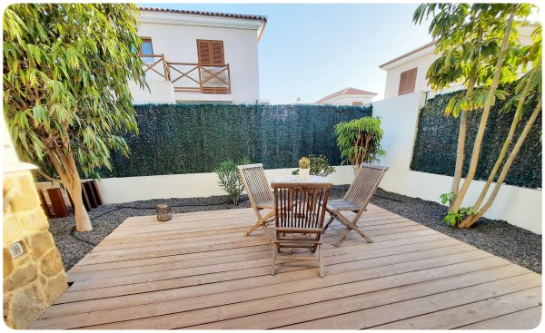
POLYGON ((231 93, 229 64, 170 63, 163 54, 140 54, 149 79, 173 83, 174 92, 231 93))

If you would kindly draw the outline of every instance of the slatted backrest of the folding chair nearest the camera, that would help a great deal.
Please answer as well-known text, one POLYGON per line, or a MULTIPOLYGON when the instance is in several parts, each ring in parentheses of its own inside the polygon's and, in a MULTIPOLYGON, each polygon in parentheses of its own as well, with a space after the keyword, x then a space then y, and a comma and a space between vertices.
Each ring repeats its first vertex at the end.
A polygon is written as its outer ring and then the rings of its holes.
POLYGON ((331 182, 273 182, 276 227, 321 229, 331 188, 331 182))

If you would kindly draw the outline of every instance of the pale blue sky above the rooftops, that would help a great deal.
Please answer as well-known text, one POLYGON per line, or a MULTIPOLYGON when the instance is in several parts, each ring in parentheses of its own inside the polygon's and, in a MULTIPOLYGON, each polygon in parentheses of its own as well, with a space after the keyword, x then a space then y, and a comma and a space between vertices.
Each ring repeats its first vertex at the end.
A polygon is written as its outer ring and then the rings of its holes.
POLYGON ((314 103, 347 87, 384 94, 379 65, 431 42, 428 25, 413 24, 418 3, 163 4, 141 6, 265 15, 259 42, 260 97, 271 103, 314 103))

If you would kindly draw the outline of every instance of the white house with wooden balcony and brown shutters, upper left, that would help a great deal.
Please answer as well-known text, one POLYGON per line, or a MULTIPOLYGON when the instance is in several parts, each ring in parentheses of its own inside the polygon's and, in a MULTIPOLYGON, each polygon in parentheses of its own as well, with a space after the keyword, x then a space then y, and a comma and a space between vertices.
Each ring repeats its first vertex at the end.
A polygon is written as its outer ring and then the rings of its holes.
POLYGON ((150 91, 134 103, 256 103, 266 16, 139 8, 150 91))

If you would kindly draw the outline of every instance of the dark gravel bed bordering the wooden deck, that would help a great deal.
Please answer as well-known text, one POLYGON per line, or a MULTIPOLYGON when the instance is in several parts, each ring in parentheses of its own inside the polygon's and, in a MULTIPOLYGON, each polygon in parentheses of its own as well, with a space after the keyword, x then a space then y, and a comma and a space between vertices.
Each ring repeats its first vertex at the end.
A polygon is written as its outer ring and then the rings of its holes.
MULTIPOLYGON (((330 199, 341 199, 347 189, 348 185, 334 186, 330 199)), ((87 252, 93 250, 96 244, 127 218, 155 215, 154 207, 159 203, 166 203, 172 208, 173 213, 250 207, 250 202, 245 195, 241 197, 238 206, 234 206, 227 196, 134 201, 104 205, 89 212, 93 230, 86 232, 75 231, 74 216, 52 219, 49 230, 61 252, 64 269, 71 269, 84 258, 87 252)), ((378 189, 372 203, 541 274, 542 240, 539 234, 511 225, 505 220, 484 218, 471 226, 470 229, 452 228, 442 222, 443 216, 448 211, 447 207, 433 201, 423 201, 420 198, 411 198, 382 189, 378 189)))

